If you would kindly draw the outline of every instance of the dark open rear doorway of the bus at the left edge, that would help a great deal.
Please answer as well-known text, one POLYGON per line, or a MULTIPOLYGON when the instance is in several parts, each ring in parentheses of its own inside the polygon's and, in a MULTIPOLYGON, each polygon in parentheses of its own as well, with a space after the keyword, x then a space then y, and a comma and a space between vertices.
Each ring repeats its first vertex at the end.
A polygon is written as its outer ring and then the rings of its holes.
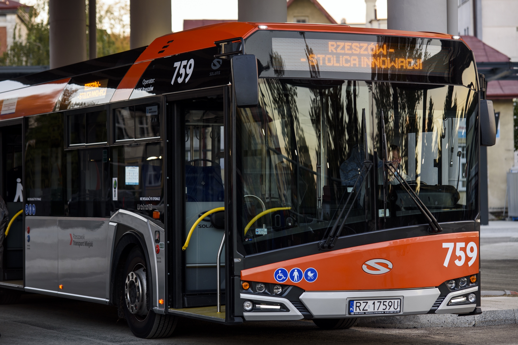
MULTIPOLYGON (((23 208, 22 125, 0 129, 1 195, 9 211, 9 221, 23 208)), ((7 229, 4 229, 4 231, 7 229)), ((23 217, 16 217, 4 238, 2 275, 0 280, 23 279, 23 217)), ((22 285, 20 283, 20 285, 22 285)))

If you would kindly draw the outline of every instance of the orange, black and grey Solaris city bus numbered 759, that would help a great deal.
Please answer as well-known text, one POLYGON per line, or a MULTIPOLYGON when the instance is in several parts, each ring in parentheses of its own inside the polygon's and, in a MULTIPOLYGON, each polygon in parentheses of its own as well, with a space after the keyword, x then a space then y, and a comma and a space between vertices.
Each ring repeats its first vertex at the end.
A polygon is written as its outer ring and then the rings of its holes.
POLYGON ((141 338, 480 313, 492 103, 460 37, 221 23, 0 82, 2 299, 141 338))

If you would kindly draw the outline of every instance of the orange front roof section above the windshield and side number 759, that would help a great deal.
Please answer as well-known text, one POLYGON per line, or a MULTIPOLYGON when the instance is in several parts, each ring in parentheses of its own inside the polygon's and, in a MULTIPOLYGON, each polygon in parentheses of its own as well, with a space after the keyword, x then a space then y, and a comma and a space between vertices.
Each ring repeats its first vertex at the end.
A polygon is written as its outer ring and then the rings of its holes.
POLYGON ((350 33, 387 36, 410 36, 436 39, 452 39, 451 35, 440 33, 425 33, 402 30, 384 30, 364 27, 350 27, 336 24, 304 24, 304 23, 249 23, 225 22, 180 31, 156 38, 135 62, 155 59, 164 56, 192 52, 198 49, 214 46, 214 41, 234 37, 246 38, 259 30, 259 25, 268 26, 268 30, 350 33), (161 53, 159 53, 161 52, 161 53))

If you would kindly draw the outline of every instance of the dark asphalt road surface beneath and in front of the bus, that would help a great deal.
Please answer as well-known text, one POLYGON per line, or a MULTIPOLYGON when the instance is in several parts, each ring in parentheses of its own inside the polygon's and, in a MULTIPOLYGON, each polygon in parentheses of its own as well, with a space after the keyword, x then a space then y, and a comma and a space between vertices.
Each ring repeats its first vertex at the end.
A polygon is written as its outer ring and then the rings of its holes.
POLYGON ((310 321, 222 326, 181 319, 168 339, 135 338, 113 307, 44 295, 0 306, 2 344, 518 344, 518 325, 322 331, 310 321))

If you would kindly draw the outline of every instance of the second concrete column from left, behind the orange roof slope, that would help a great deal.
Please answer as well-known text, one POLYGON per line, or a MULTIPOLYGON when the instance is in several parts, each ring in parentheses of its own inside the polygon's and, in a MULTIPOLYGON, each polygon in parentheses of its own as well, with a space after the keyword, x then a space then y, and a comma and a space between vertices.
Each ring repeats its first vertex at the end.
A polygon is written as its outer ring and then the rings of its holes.
POLYGON ((171 33, 171 0, 130 0, 130 48, 171 33))

